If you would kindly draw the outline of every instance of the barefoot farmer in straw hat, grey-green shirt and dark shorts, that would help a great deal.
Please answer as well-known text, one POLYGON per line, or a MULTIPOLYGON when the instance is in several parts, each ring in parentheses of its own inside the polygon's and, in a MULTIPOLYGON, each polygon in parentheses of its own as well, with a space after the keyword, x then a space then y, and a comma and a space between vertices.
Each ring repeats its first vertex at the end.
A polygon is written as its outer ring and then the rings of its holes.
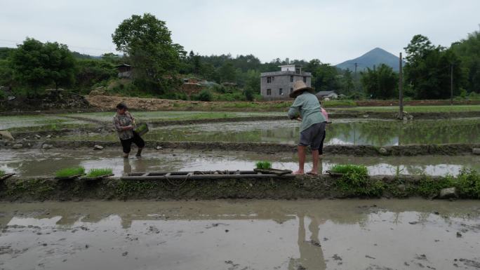
POLYGON ((295 81, 290 97, 295 98, 295 101, 288 110, 288 117, 302 121, 298 143, 298 170, 293 174, 305 174, 305 148, 309 146, 312 150, 313 168, 308 174, 318 175, 319 148, 324 136, 326 119, 321 113, 320 103, 314 95, 313 88, 308 87, 303 81, 295 81))

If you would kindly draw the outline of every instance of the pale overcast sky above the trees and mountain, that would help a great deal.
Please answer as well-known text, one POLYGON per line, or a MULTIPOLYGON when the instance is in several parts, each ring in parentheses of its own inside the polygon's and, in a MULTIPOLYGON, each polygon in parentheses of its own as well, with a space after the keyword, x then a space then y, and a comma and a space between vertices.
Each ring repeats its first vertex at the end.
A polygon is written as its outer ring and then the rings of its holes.
POLYGON ((116 27, 152 13, 173 42, 200 55, 336 65, 375 47, 398 55, 415 34, 450 46, 479 30, 479 12, 480 0, 0 0, 0 47, 28 36, 90 55, 116 53, 116 27))

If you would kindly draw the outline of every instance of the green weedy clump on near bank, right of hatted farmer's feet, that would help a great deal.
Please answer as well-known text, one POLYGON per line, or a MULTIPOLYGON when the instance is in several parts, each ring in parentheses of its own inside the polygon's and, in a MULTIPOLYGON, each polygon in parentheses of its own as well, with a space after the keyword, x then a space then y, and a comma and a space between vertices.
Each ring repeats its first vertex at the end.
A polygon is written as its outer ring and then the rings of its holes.
POLYGON ((370 180, 366 166, 339 164, 331 170, 343 174, 335 184, 345 196, 382 196, 385 183, 370 180))

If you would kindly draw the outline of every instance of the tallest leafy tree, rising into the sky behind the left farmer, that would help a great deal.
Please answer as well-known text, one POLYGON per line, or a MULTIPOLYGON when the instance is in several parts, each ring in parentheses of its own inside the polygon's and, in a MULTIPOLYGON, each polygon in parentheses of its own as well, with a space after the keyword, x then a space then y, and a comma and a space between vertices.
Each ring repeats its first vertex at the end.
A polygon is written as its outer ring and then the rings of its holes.
POLYGON ((149 90, 166 88, 169 82, 165 78, 178 71, 183 48, 172 42, 166 23, 152 14, 132 15, 124 20, 112 40, 133 64, 133 76, 138 80, 135 85, 149 90))

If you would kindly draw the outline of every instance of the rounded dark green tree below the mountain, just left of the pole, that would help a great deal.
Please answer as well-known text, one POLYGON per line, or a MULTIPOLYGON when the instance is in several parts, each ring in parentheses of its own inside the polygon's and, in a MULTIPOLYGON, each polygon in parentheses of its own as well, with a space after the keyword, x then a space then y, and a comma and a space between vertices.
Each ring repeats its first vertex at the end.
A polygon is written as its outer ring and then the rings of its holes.
POLYGON ((371 98, 388 99, 396 96, 398 75, 392 67, 382 64, 378 69, 367 68, 366 72, 360 74, 364 90, 371 98))

